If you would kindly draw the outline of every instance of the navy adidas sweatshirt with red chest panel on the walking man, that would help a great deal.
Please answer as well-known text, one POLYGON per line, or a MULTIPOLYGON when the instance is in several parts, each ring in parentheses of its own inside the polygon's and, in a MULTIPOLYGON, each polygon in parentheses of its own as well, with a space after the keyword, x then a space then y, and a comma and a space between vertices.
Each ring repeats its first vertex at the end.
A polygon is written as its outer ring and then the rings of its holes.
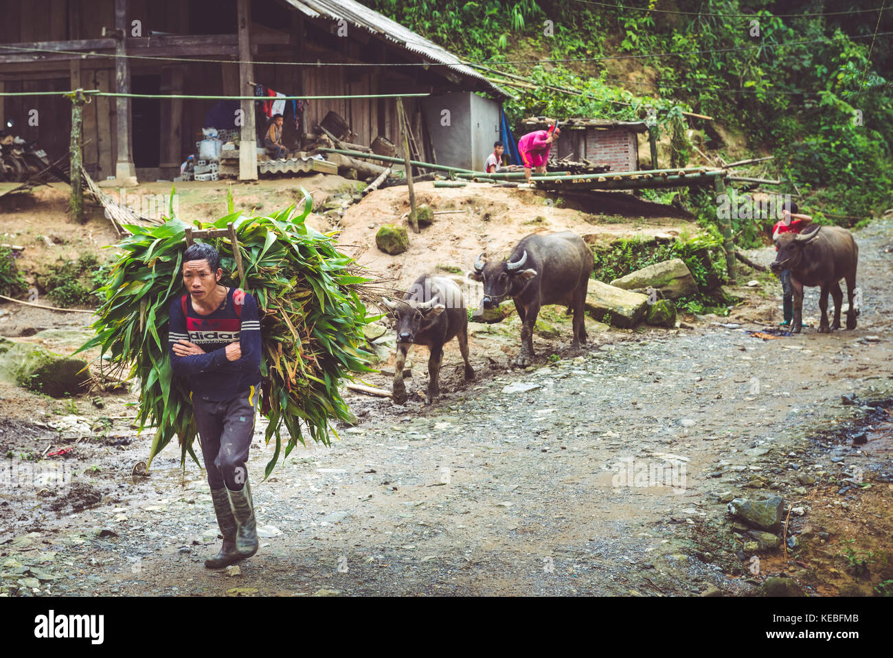
POLYGON ((171 301, 171 328, 168 334, 171 367, 174 375, 189 378, 193 397, 202 400, 230 400, 261 382, 261 324, 257 302, 252 295, 230 288, 226 301, 211 315, 202 316, 186 297, 186 315, 182 300, 171 301), (242 302, 241 319, 236 315, 236 302, 242 302), (195 343, 205 354, 178 357, 173 345, 179 340, 195 343), (240 359, 226 358, 226 346, 239 343, 240 359))

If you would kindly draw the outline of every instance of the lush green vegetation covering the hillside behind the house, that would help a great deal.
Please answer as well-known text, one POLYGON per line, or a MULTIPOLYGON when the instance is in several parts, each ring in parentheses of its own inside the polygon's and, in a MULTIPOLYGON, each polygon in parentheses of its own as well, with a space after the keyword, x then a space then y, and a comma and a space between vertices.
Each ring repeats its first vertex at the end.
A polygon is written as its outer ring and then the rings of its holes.
MULTIPOLYGON (((532 84, 504 103, 513 126, 531 114, 651 114, 671 166, 703 164, 692 135, 727 161, 775 156, 761 172, 784 183, 769 190, 799 195, 819 222, 851 226, 893 205, 893 84, 882 75, 893 11, 868 11, 880 0, 368 2, 492 78, 532 84)), ((715 218, 712 191, 650 196, 715 218)), ((745 246, 765 237, 765 225, 733 224, 745 246)))

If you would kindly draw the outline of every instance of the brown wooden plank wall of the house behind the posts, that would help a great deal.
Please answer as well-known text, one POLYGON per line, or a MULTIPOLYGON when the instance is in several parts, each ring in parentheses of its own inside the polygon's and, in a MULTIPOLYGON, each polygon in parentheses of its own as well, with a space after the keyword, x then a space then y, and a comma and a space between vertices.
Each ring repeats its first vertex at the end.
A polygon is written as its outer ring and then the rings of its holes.
MULTIPOLYGON (((188 33, 188 6, 182 0, 129 0, 129 21, 141 21, 142 36, 148 30, 188 33)), ((103 27, 114 25, 114 0, 29 0, 28 2, 4 3, 4 16, 0 21, 0 42, 14 43, 35 40, 65 40, 72 38, 101 38, 103 27)), ((130 27, 129 27, 130 30, 130 27)), ((343 54, 361 59, 359 43, 347 45, 343 54)), ((383 48, 382 56, 387 56, 383 48)), ((298 48, 280 46, 265 48, 259 58, 264 60, 288 59, 301 61, 298 48)), ((246 94, 250 89, 233 89, 231 64, 187 63, 183 65, 183 89, 195 94, 246 94)), ((132 60, 132 75, 159 74, 161 65, 132 60)), ((301 67, 276 64, 255 66, 257 82, 287 94, 308 96, 396 93, 413 89, 413 81, 373 67, 301 67)), ((238 80, 238 78, 236 79, 238 80)), ((80 83, 85 89, 113 90, 113 60, 85 60, 81 63, 80 83)), ((71 81, 60 72, 58 79, 29 80, 22 74, 19 80, 5 80, 5 90, 70 89, 71 81)), ((164 102, 164 101, 163 101, 164 102)), ((67 99, 55 97, 0 99, 0 116, 13 117, 24 139, 40 139, 49 156, 60 156, 68 150, 68 133, 71 126, 71 105, 67 99), (39 125, 28 125, 28 110, 38 109, 39 125), (47 129, 47 127, 50 127, 47 129), (41 130, 43 129, 43 130, 41 130)), ((179 135, 179 159, 196 152, 195 142, 201 139, 204 114, 213 101, 182 101, 181 129, 179 135)), ((406 101, 406 111, 412 122, 413 134, 423 157, 430 159, 430 151, 421 125, 421 99, 406 101)), ((349 100, 314 100, 305 108, 304 131, 312 131, 330 111, 337 112, 350 123, 357 143, 368 145, 379 134, 396 144, 399 155, 403 148, 398 130, 396 101, 388 99, 357 98, 349 100), (384 131, 379 126, 384 126, 384 131)), ((165 109, 162 110, 163 114, 165 109)), ((169 117, 170 118, 170 117, 169 117)), ((263 128, 268 119, 259 116, 263 128)), ((117 153, 115 103, 109 98, 94 98, 84 109, 84 139, 87 146, 84 164, 91 175, 103 180, 114 174, 114 158, 117 153)), ((172 122, 171 122, 172 123, 172 122)), ((161 131, 161 126, 159 126, 161 131)), ((159 135, 159 145, 165 136, 159 135)), ((287 121, 283 135, 287 146, 296 146, 298 135, 294 123, 287 121)), ((167 148, 169 158, 178 157, 167 148)))

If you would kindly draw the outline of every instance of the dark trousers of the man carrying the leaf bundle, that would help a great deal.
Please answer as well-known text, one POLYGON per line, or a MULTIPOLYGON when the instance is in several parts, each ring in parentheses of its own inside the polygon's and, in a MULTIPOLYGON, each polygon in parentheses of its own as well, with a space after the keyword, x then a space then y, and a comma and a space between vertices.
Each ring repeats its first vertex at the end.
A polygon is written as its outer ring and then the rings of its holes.
POLYGON ((248 449, 255 434, 255 412, 261 384, 224 401, 194 399, 198 437, 202 443, 204 468, 212 489, 226 485, 241 491, 248 477, 248 449))

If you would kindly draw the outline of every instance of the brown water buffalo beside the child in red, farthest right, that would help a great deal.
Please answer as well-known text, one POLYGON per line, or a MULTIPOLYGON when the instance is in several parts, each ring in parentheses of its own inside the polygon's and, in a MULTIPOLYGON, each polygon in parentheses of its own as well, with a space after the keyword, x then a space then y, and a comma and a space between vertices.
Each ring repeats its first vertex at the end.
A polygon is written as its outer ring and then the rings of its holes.
POLYGON ((803 287, 822 286, 819 308, 822 322, 819 331, 829 333, 840 328, 840 307, 843 291, 840 279, 847 280, 847 329, 855 329, 857 310, 855 296, 855 266, 859 260, 859 246, 852 233, 839 226, 818 226, 814 231, 781 233, 775 240, 778 255, 772 263, 772 272, 790 270, 790 283, 794 292, 794 324, 791 331, 802 329, 803 287), (834 298, 834 322, 828 325, 828 293, 834 298))

